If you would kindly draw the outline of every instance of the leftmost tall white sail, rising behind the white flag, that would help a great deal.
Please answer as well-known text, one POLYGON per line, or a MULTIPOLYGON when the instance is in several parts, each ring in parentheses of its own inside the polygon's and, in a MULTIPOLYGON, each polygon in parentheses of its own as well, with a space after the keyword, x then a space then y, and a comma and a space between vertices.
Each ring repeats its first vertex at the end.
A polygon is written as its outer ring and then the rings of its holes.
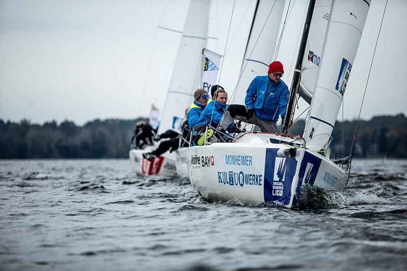
POLYGON ((201 50, 207 41, 209 7, 210 1, 191 0, 165 99, 159 133, 178 129, 178 123, 184 118, 185 108, 193 100, 193 92, 200 85, 201 50))

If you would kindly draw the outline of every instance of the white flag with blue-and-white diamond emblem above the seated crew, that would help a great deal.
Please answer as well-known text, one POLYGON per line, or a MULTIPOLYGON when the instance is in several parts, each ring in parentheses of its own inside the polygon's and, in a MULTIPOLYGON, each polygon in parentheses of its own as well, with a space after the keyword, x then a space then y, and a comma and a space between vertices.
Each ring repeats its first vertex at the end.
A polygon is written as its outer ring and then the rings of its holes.
POLYGON ((218 71, 222 56, 211 50, 203 48, 202 50, 202 88, 211 95, 211 87, 217 84, 218 71))

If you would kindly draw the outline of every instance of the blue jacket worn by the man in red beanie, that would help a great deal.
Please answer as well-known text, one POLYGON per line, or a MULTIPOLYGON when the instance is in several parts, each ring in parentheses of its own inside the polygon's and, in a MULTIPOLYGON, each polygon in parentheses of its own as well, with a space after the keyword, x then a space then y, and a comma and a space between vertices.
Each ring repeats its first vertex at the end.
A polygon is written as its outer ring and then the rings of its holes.
POLYGON ((253 108, 260 119, 278 121, 278 115, 285 115, 288 102, 288 87, 280 79, 272 82, 268 75, 256 76, 246 92, 245 104, 253 108))

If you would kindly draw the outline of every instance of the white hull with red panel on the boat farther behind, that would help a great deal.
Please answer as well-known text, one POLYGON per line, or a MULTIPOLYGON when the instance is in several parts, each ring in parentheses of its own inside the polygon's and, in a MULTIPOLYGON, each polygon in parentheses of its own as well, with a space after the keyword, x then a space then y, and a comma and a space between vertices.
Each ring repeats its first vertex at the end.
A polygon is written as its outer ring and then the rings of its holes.
POLYGON ((143 176, 162 176, 174 177, 177 176, 175 154, 165 153, 162 156, 154 158, 151 162, 142 157, 143 153, 147 153, 152 148, 132 149, 129 152, 131 168, 137 175, 143 176))

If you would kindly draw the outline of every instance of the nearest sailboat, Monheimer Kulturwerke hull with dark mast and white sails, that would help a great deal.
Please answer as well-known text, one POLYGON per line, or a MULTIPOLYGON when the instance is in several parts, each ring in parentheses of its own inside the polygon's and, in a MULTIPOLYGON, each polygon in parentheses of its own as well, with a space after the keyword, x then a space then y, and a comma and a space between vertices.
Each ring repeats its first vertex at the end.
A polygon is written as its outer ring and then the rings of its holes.
MULTIPOLYGON (((284 134, 246 132, 239 134, 232 143, 186 149, 191 184, 203 197, 247 204, 271 201, 291 208, 299 202, 305 186, 326 191, 345 188, 352 157, 331 161, 329 143, 370 1, 316 2, 310 0, 306 12, 286 121, 282 127, 284 134), (307 67, 303 65, 304 61, 312 65, 307 67), (298 94, 310 103, 302 136, 289 135, 298 94)), ((261 25, 258 17, 253 28, 260 27, 256 23, 261 25)), ((257 41, 257 37, 249 39, 257 41)), ((253 52, 262 48, 262 40, 258 39, 260 46, 252 49, 253 52)), ((271 62, 271 58, 245 58, 249 59, 248 65, 271 62)))

